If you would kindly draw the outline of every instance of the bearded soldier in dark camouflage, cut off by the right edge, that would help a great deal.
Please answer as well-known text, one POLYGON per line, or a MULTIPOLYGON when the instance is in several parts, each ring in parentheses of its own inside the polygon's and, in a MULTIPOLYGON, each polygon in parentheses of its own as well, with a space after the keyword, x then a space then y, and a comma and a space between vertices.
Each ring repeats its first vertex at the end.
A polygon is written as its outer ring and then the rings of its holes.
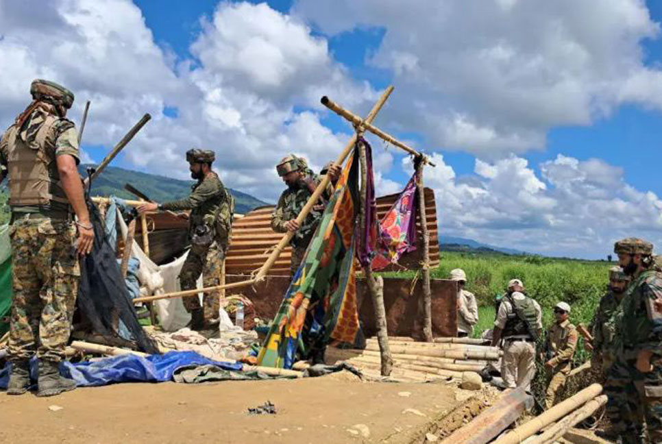
POLYGON ((604 386, 609 437, 662 443, 662 273, 646 240, 619 240, 614 252, 632 282, 614 314, 615 361, 604 386))

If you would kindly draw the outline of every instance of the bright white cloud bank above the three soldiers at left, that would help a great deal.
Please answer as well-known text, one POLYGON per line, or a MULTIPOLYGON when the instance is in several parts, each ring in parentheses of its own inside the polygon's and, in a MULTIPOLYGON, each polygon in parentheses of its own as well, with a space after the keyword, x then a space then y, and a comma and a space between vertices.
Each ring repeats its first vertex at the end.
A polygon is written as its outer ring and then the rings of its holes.
POLYGON ((27 106, 32 79, 53 79, 75 92, 75 121, 92 101, 84 143, 109 149, 149 112, 127 167, 188 178, 184 152, 214 149, 226 184, 263 199, 282 190, 274 165, 286 153, 319 168, 341 151, 348 136, 320 122, 324 93, 358 110, 377 97, 325 38, 266 4, 219 3, 191 46, 197 60, 177 66, 127 0, 1 2, 0 29, 0 59, 12 61, 0 70, 1 125, 27 106))

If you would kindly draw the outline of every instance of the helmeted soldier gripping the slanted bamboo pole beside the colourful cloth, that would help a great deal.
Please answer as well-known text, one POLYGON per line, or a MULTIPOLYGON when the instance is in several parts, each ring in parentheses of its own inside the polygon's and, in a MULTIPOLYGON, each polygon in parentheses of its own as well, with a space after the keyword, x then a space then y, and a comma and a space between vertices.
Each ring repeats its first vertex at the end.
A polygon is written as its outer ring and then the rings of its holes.
MULTIPOLYGON (((278 204, 273 214, 271 214, 271 228, 279 233, 294 232, 290 242, 292 247, 290 277, 293 277, 304 258, 304 254, 306 254, 312 235, 315 234, 315 229, 321 219, 326 201, 330 199, 333 193, 333 188, 330 185, 327 186, 321 197, 322 202, 314 206, 304 222, 299 225, 296 218, 306 205, 310 195, 321 182, 321 177, 308 168, 306 160, 297 158, 293 154, 282 158, 276 165, 276 171, 282 177, 283 182, 287 184, 287 189, 280 195, 278 204)), ((340 167, 336 164, 330 165, 328 174, 332 181, 335 180, 339 177, 340 167)))

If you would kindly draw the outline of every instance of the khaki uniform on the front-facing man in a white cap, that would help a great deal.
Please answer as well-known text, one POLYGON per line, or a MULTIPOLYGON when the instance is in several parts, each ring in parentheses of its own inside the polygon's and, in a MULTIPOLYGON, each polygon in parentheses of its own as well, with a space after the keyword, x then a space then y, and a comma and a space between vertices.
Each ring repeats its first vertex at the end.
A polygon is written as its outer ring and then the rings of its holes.
POLYGON ((556 393, 565 385, 567 374, 572 369, 572 356, 577 347, 578 333, 567 319, 563 323, 554 323, 547 332, 547 341, 552 351, 552 369, 550 382, 545 395, 545 408, 550 408, 556 400, 556 393))

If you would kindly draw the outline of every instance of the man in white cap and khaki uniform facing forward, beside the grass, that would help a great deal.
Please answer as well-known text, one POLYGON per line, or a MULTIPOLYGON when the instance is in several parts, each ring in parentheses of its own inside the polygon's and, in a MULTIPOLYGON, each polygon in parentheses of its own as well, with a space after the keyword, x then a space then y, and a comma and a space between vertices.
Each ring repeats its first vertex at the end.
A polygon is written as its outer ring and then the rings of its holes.
POLYGON ((556 393, 565 385, 568 373, 572 369, 572 356, 579 338, 577 329, 568 320, 570 306, 559 302, 554 307, 556 322, 547 330, 545 349, 550 356, 545 357, 545 367, 549 372, 549 384, 545 394, 545 408, 549 409, 556 401, 556 393))

